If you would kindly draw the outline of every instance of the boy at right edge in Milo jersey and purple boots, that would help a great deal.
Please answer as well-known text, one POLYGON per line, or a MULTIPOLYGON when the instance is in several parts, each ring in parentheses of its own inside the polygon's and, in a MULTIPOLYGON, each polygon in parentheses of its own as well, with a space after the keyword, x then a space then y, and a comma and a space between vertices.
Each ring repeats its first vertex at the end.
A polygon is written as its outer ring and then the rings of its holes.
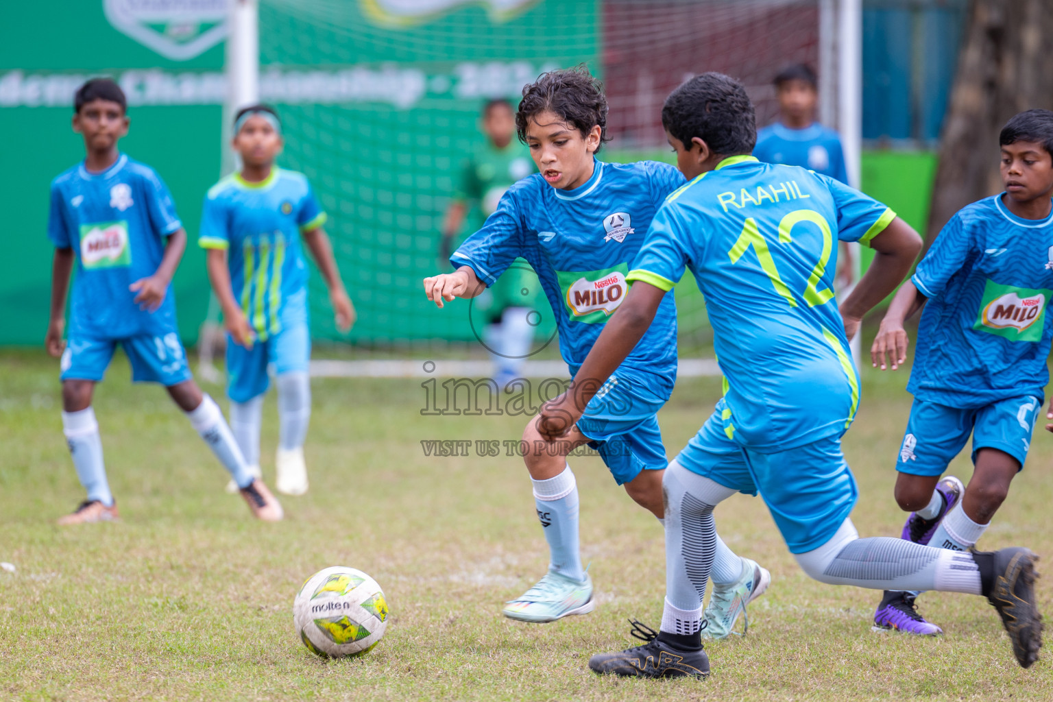
MULTIPOLYGON (((925 307, 895 497, 912 513, 902 538, 954 550, 976 543, 1024 467, 1049 382, 1053 113, 1020 113, 998 142, 1006 190, 951 218, 896 294, 872 348, 875 367, 897 368, 907 355, 903 322, 925 307), (962 490, 960 480, 940 476, 970 434, 974 469, 962 490)), ((886 593, 875 624, 940 634, 917 614, 916 595, 886 593)))

